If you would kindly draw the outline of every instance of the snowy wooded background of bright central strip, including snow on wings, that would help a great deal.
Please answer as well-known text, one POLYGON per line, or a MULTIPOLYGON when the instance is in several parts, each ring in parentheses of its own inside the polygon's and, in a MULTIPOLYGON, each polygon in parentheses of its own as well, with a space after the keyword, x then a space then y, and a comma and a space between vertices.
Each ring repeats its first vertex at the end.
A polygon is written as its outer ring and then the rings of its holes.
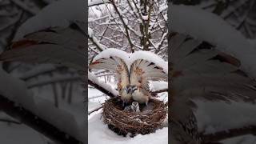
MULTIPOLYGON (((129 66, 134 60, 144 58, 155 62, 168 73, 167 2, 150 2, 114 1, 90 6, 88 62, 111 55, 122 58, 129 66)), ((117 94, 117 82, 112 72, 90 71, 89 79, 106 87, 112 94, 117 94)), ((166 91, 167 87, 167 82, 150 82, 151 91, 166 91)), ((99 108, 110 97, 89 85, 88 98, 88 143, 168 143, 168 127, 163 127, 154 134, 138 134, 134 138, 129 135, 119 136, 109 130, 101 118, 102 109, 99 108)), ((158 99, 168 102, 167 92, 159 93, 158 99)))

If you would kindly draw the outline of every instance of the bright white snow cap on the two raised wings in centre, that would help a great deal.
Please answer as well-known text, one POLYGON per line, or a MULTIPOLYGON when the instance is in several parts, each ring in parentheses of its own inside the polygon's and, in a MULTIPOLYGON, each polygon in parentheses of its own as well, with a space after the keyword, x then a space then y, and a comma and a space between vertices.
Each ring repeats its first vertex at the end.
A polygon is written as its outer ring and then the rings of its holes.
POLYGON ((100 58, 110 58, 110 56, 122 58, 126 62, 127 66, 130 66, 130 64, 137 59, 145 59, 149 62, 154 62, 157 66, 162 67, 166 74, 168 74, 168 62, 164 61, 157 54, 154 54, 150 51, 135 51, 131 54, 126 53, 123 50, 111 48, 103 50, 94 58, 94 61, 100 58))

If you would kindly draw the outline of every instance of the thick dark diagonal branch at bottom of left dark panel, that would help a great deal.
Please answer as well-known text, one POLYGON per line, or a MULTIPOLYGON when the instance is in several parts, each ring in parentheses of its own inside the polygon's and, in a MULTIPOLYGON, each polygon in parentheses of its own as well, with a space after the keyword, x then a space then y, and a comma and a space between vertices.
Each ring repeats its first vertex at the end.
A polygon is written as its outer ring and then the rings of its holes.
POLYGON ((50 138, 54 142, 63 144, 82 144, 78 139, 66 134, 62 130, 59 130, 49 122, 46 122, 37 115, 18 106, 15 102, 10 101, 8 98, 0 95, 0 110, 10 115, 11 117, 18 119, 23 124, 30 126, 32 129, 37 130, 39 133, 50 138), (68 137, 67 137, 68 135, 68 137))

